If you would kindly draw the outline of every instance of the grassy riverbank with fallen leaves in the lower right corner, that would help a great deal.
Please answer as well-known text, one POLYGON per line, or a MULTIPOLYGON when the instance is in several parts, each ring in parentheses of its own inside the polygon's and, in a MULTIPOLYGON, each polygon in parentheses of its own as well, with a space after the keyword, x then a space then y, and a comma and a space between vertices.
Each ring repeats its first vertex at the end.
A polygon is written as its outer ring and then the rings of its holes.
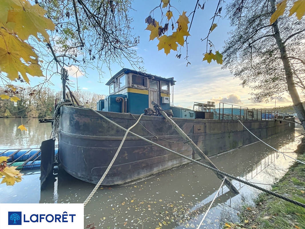
MULTIPOLYGON (((305 139, 297 151, 300 161, 305 161, 305 139)), ((294 163, 278 181, 279 185, 304 186, 305 165, 294 163)), ((305 188, 272 186, 272 191, 305 204, 305 188)), ((243 205, 238 213, 241 223, 227 222, 224 228, 303 228, 305 229, 305 208, 262 193, 255 200, 255 206, 243 205)))

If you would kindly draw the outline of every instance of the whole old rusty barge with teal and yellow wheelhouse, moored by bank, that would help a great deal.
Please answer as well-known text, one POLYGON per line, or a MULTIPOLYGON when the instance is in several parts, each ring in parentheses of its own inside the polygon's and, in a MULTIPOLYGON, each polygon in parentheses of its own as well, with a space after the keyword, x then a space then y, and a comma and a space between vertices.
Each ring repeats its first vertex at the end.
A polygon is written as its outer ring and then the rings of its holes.
MULTIPOLYGON (((216 111, 213 103, 196 103, 199 108, 196 110, 195 107, 170 106, 170 86, 175 82, 174 78, 123 68, 106 83, 109 95, 98 101, 97 112, 128 129, 145 108, 153 109, 151 102, 155 101, 163 110, 172 112, 172 120, 207 156, 257 141, 239 120, 260 139, 294 128, 290 122, 262 118, 262 111, 254 109, 240 107, 240 112, 233 114, 232 108, 230 115, 221 113, 221 109, 216 111)), ((282 118, 294 121, 292 116, 282 118)), ((62 106, 59 120, 61 166, 72 176, 96 184, 116 153, 125 131, 81 107, 62 106)), ((187 157, 199 159, 162 116, 143 115, 132 132, 187 157)), ((124 184, 188 162, 128 134, 102 184, 124 184)))

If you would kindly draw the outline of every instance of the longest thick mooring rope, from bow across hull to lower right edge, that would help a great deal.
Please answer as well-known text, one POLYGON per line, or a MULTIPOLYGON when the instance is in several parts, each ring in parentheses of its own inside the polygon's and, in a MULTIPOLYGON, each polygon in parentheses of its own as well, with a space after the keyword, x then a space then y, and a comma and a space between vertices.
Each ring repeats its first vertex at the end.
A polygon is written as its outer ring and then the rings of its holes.
MULTIPOLYGON (((91 108, 84 108, 84 107, 80 107, 80 106, 77 106, 77 105, 74 105, 74 104, 73 104, 73 106, 79 107, 79 108, 82 108, 82 109, 91 110, 91 111, 93 111, 94 113, 96 113, 97 115, 99 115, 99 116, 101 116, 102 118, 106 119, 108 122, 112 123, 113 125, 119 127, 119 128, 122 129, 122 130, 127 131, 127 129, 125 129, 123 126, 120 126, 119 124, 117 124, 117 123, 111 121, 109 118, 105 117, 104 115, 100 114, 99 112, 97 112, 97 111, 95 111, 95 110, 93 110, 93 109, 91 109, 91 108)), ((142 139, 142 140, 144 140, 144 141, 146 141, 146 142, 149 142, 150 144, 159 146, 159 147, 161 147, 162 149, 164 149, 164 150, 166 150, 166 151, 169 151, 169 152, 171 152, 171 153, 173 153, 173 154, 176 154, 176 155, 178 155, 178 156, 180 156, 180 157, 182 157, 182 158, 185 158, 186 160, 189 160, 189 161, 194 162, 194 163, 196 163, 196 164, 198 164, 198 165, 201 165, 201 166, 203 166, 203 167, 205 167, 205 168, 207 168, 207 169, 210 169, 210 170, 212 170, 212 171, 214 171, 214 172, 217 172, 217 173, 219 173, 219 174, 222 174, 222 175, 224 175, 224 176, 227 176, 228 178, 231 178, 231 179, 233 179, 233 180, 237 180, 237 181, 239 181, 240 183, 246 184, 246 185, 251 186, 251 187, 253 187, 253 188, 256 188, 256 189, 258 189, 258 190, 260 190, 260 191, 266 192, 266 193, 271 194, 271 195, 273 195, 273 196, 275 196, 275 197, 281 198, 281 199, 283 199, 283 200, 285 200, 285 201, 288 201, 288 202, 290 202, 290 203, 293 203, 293 204, 296 204, 296 205, 299 205, 299 206, 305 208, 305 204, 303 204, 303 203, 300 203, 300 202, 298 202, 298 201, 292 200, 292 199, 290 199, 290 198, 287 198, 287 197, 285 197, 285 196, 282 196, 282 195, 280 195, 280 194, 277 194, 277 193, 275 193, 275 192, 273 192, 273 191, 270 191, 270 190, 265 189, 265 188, 263 188, 263 187, 257 186, 257 185, 255 185, 255 184, 251 184, 251 183, 249 183, 248 181, 242 180, 242 179, 240 179, 240 178, 238 178, 238 177, 236 177, 236 176, 232 176, 231 174, 222 172, 222 171, 219 170, 219 169, 214 169, 213 167, 211 167, 211 166, 209 166, 209 165, 205 165, 205 164, 203 164, 203 163, 201 163, 201 162, 198 162, 198 161, 196 161, 196 160, 194 160, 194 159, 192 159, 192 158, 189 158, 189 157, 187 157, 187 156, 185 156, 185 155, 183 155, 183 154, 179 154, 179 153, 177 153, 177 152, 175 152, 175 151, 173 151, 173 150, 171 150, 171 149, 168 149, 168 148, 166 148, 166 147, 164 147, 164 146, 161 146, 161 145, 159 145, 159 144, 157 144, 157 143, 155 143, 155 142, 153 142, 153 141, 150 141, 150 140, 148 140, 148 139, 146 139, 146 138, 144 138, 144 137, 142 137, 142 136, 140 136, 140 135, 138 135, 138 134, 136 134, 136 133, 133 133, 133 132, 131 132, 131 131, 130 131, 129 133, 131 133, 132 135, 134 135, 134 136, 136 136, 136 137, 138 137, 138 138, 140 138, 140 139, 142 139)))

